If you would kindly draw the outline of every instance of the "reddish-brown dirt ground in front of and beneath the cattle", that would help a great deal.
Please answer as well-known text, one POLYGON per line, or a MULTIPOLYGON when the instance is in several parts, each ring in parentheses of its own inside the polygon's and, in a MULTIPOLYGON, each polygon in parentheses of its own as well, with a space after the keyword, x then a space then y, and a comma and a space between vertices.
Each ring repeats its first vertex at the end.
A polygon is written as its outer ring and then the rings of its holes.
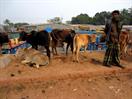
POLYGON ((59 53, 39 69, 15 61, 0 69, 0 99, 132 99, 132 56, 125 69, 102 66, 103 51, 59 53))

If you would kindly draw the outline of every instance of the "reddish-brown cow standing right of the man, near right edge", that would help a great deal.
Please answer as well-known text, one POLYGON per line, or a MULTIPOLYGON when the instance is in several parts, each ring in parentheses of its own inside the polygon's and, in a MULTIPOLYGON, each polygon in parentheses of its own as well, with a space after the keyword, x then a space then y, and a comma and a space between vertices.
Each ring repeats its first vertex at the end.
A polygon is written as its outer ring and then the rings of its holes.
POLYGON ((120 57, 126 57, 127 49, 129 44, 129 32, 122 31, 119 36, 119 44, 120 44, 120 57))

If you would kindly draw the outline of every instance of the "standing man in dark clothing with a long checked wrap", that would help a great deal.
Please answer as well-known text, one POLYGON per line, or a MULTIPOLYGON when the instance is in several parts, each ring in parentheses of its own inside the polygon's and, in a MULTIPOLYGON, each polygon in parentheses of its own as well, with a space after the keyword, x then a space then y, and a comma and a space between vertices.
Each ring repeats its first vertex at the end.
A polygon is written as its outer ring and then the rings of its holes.
POLYGON ((105 26, 106 41, 108 48, 106 49, 103 65, 110 67, 115 65, 124 68, 120 64, 120 45, 119 45, 119 35, 122 29, 122 24, 120 22, 120 13, 118 10, 112 12, 112 19, 107 22, 105 26))

